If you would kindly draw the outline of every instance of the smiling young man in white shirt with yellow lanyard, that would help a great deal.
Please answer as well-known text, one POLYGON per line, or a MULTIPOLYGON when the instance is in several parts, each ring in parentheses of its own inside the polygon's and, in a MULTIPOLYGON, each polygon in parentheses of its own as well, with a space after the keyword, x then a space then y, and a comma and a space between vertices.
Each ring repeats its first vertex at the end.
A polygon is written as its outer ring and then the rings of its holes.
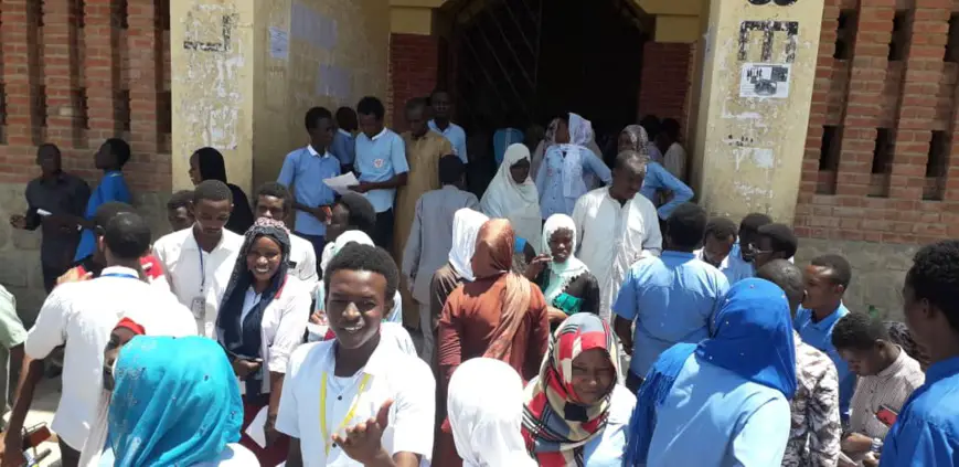
POLYGON ((381 346, 396 265, 386 251, 353 243, 333 257, 323 283, 337 338, 290 355, 276 421, 291 438, 287 466, 428 465, 436 381, 416 355, 381 346))

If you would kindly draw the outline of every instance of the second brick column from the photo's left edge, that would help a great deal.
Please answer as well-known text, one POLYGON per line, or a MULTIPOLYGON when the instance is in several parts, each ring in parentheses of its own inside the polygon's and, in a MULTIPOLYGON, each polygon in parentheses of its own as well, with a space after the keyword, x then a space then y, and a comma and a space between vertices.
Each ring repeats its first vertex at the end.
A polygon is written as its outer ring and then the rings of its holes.
POLYGON ((43 81, 46 86, 46 140, 61 148, 79 139, 74 107, 74 89, 79 87, 76 71, 76 11, 73 0, 43 2, 43 81))

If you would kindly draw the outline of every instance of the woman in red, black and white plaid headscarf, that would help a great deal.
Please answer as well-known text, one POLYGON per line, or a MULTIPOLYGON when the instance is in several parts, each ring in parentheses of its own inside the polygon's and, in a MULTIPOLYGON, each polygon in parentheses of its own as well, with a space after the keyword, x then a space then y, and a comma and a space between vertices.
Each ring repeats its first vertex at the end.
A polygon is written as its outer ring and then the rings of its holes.
POLYGON ((523 438, 541 467, 619 466, 636 397, 617 383, 609 325, 593 314, 560 325, 526 386, 523 438))

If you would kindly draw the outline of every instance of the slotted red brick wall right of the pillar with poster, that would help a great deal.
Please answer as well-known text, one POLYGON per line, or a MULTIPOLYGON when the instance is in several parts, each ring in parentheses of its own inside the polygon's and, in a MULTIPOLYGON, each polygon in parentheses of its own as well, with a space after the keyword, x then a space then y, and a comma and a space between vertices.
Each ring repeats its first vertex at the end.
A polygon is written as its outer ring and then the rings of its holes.
POLYGON ((959 10, 950 0, 897 8, 895 0, 827 0, 795 219, 800 236, 959 237, 959 64, 944 62, 949 18, 959 10), (902 50, 893 60, 891 42, 902 50), (834 57, 837 50, 849 52, 834 57), (874 161, 882 134, 888 158, 874 161), (935 134, 944 150, 933 159, 944 170, 927 177, 935 134))

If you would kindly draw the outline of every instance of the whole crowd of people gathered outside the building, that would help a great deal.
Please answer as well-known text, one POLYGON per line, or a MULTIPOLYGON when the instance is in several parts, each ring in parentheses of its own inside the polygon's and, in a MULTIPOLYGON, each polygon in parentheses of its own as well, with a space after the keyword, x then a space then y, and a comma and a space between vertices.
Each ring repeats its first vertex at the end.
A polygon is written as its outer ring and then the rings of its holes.
POLYGON ((843 304, 842 256, 796 265, 787 224, 691 203, 675 120, 609 162, 576 114, 505 128, 473 193, 447 93, 402 135, 384 114, 310 109, 251 198, 196 150, 162 236, 125 141, 93 191, 41 146, 10 223, 42 229, 49 297, 28 331, 0 289, 0 466, 57 352, 66 467, 959 465, 959 241, 916 254, 885 322, 843 304))

